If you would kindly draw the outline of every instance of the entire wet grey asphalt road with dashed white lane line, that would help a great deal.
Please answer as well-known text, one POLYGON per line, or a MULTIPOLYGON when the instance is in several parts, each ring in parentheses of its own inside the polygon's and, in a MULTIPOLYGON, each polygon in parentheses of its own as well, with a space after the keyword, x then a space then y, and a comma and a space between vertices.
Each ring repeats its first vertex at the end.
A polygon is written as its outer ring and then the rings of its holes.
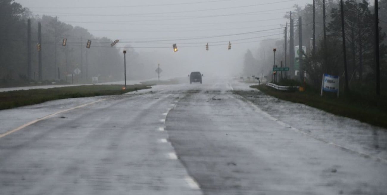
POLYGON ((387 194, 384 156, 279 121, 232 91, 247 86, 204 78, 0 111, 0 194, 387 194))

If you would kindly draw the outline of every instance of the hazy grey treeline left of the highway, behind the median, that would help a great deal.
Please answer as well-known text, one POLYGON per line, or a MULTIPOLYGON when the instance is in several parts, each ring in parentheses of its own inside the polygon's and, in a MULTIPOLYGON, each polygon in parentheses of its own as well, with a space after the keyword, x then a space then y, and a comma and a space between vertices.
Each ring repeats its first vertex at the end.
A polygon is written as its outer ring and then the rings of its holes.
MULTIPOLYGON (((96 38, 87 29, 66 24, 57 17, 33 15, 13 1, 0 0, 0 86, 38 81, 38 22, 42 29, 43 82, 71 82, 66 74, 73 74, 76 68, 82 71, 74 76, 74 82, 91 82, 91 77, 99 77, 99 82, 123 80, 123 54, 122 50, 110 47, 113 40, 96 38), (31 19, 31 75, 27 74, 27 19, 31 19), (62 46, 64 38, 66 46, 62 46), (87 40, 92 41, 89 49, 87 40)), ((141 60, 134 49, 127 46, 126 50, 132 65, 144 66, 146 60, 141 60)))

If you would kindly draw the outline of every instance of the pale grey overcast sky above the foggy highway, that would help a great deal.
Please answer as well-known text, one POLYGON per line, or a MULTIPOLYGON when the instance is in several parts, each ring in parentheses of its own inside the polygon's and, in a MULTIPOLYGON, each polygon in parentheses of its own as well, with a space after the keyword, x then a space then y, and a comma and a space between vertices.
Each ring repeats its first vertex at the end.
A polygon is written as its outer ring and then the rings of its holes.
MULTIPOLYGON (((304 6, 312 0, 15 2, 34 14, 58 16, 62 22, 84 27, 94 36, 119 39, 119 46, 125 46, 125 41, 152 42, 130 43, 139 52, 173 53, 172 44, 176 43, 179 51, 173 55, 185 63, 187 70, 200 64, 202 68, 211 66, 208 70, 214 72, 223 65, 243 64, 246 50, 257 48, 260 40, 282 38, 283 25, 287 22, 284 14, 293 10, 295 4, 304 6), (229 41, 231 50, 227 50, 229 41), (205 51, 206 43, 209 51, 205 51)), ((160 61, 168 63, 167 59, 160 61)))

